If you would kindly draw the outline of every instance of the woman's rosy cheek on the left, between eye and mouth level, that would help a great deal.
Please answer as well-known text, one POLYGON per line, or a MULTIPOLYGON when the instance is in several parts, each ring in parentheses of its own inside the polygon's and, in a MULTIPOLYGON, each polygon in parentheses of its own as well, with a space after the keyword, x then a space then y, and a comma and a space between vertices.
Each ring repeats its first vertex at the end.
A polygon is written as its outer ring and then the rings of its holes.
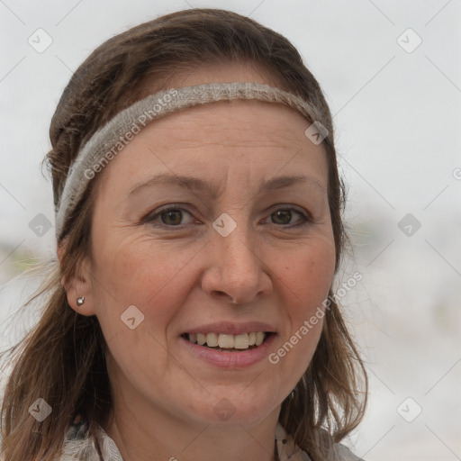
POLYGON ((119 242, 113 245, 116 251, 109 245, 99 249, 94 267, 95 308, 103 330, 108 335, 121 330, 121 315, 131 305, 145 320, 155 313, 156 325, 166 326, 193 284, 186 269, 194 252, 139 240, 119 242))

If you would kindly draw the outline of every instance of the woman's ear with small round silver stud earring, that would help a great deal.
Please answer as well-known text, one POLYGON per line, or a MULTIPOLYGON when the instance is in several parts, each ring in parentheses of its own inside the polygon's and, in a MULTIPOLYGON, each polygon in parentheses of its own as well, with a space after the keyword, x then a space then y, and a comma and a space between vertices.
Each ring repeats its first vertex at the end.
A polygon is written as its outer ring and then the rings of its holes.
MULTIPOLYGON (((58 244, 57 253, 59 262, 62 264, 62 258, 66 252, 66 242, 58 244)), ((76 312, 90 316, 95 315, 95 297, 91 284, 91 266, 89 259, 77 263, 75 274, 71 279, 61 279, 61 285, 64 286, 68 294, 68 305, 76 312), (77 299, 84 298, 83 303, 78 305, 77 299)))

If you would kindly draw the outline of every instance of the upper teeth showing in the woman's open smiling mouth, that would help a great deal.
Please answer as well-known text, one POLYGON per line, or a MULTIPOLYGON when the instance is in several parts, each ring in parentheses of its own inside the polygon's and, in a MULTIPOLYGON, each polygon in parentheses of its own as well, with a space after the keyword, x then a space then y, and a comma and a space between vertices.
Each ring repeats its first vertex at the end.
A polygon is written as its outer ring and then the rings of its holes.
POLYGON ((224 333, 183 333, 182 338, 205 348, 222 352, 244 352, 259 348, 271 336, 273 331, 250 331, 238 335, 224 333))

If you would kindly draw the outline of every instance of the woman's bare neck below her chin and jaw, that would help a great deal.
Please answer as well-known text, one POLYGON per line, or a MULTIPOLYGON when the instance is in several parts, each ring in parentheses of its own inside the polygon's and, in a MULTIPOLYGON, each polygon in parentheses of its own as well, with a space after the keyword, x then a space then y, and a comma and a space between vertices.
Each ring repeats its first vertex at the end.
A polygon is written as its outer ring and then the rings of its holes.
MULTIPOLYGON (((125 401, 126 402, 126 401, 125 401)), ((276 422, 280 408, 251 427, 243 424, 200 424, 170 415, 113 407, 105 429, 123 461, 275 461, 276 422)))

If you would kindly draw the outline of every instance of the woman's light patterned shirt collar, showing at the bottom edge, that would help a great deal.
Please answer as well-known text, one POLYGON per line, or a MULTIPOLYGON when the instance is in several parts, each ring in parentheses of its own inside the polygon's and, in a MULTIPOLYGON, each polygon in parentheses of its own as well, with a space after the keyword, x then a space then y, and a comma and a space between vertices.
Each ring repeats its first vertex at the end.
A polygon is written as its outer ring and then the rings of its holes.
MULTIPOLYGON (((123 461, 119 449, 104 429, 96 425, 95 436, 86 436, 87 424, 77 416, 69 427, 59 461, 123 461)), ((279 461, 312 461, 312 458, 294 443, 280 422, 276 425, 276 450, 279 461)), ((175 459, 172 456, 172 459, 175 459)), ((353 455, 344 445, 336 444, 331 461, 364 461, 353 455)))

